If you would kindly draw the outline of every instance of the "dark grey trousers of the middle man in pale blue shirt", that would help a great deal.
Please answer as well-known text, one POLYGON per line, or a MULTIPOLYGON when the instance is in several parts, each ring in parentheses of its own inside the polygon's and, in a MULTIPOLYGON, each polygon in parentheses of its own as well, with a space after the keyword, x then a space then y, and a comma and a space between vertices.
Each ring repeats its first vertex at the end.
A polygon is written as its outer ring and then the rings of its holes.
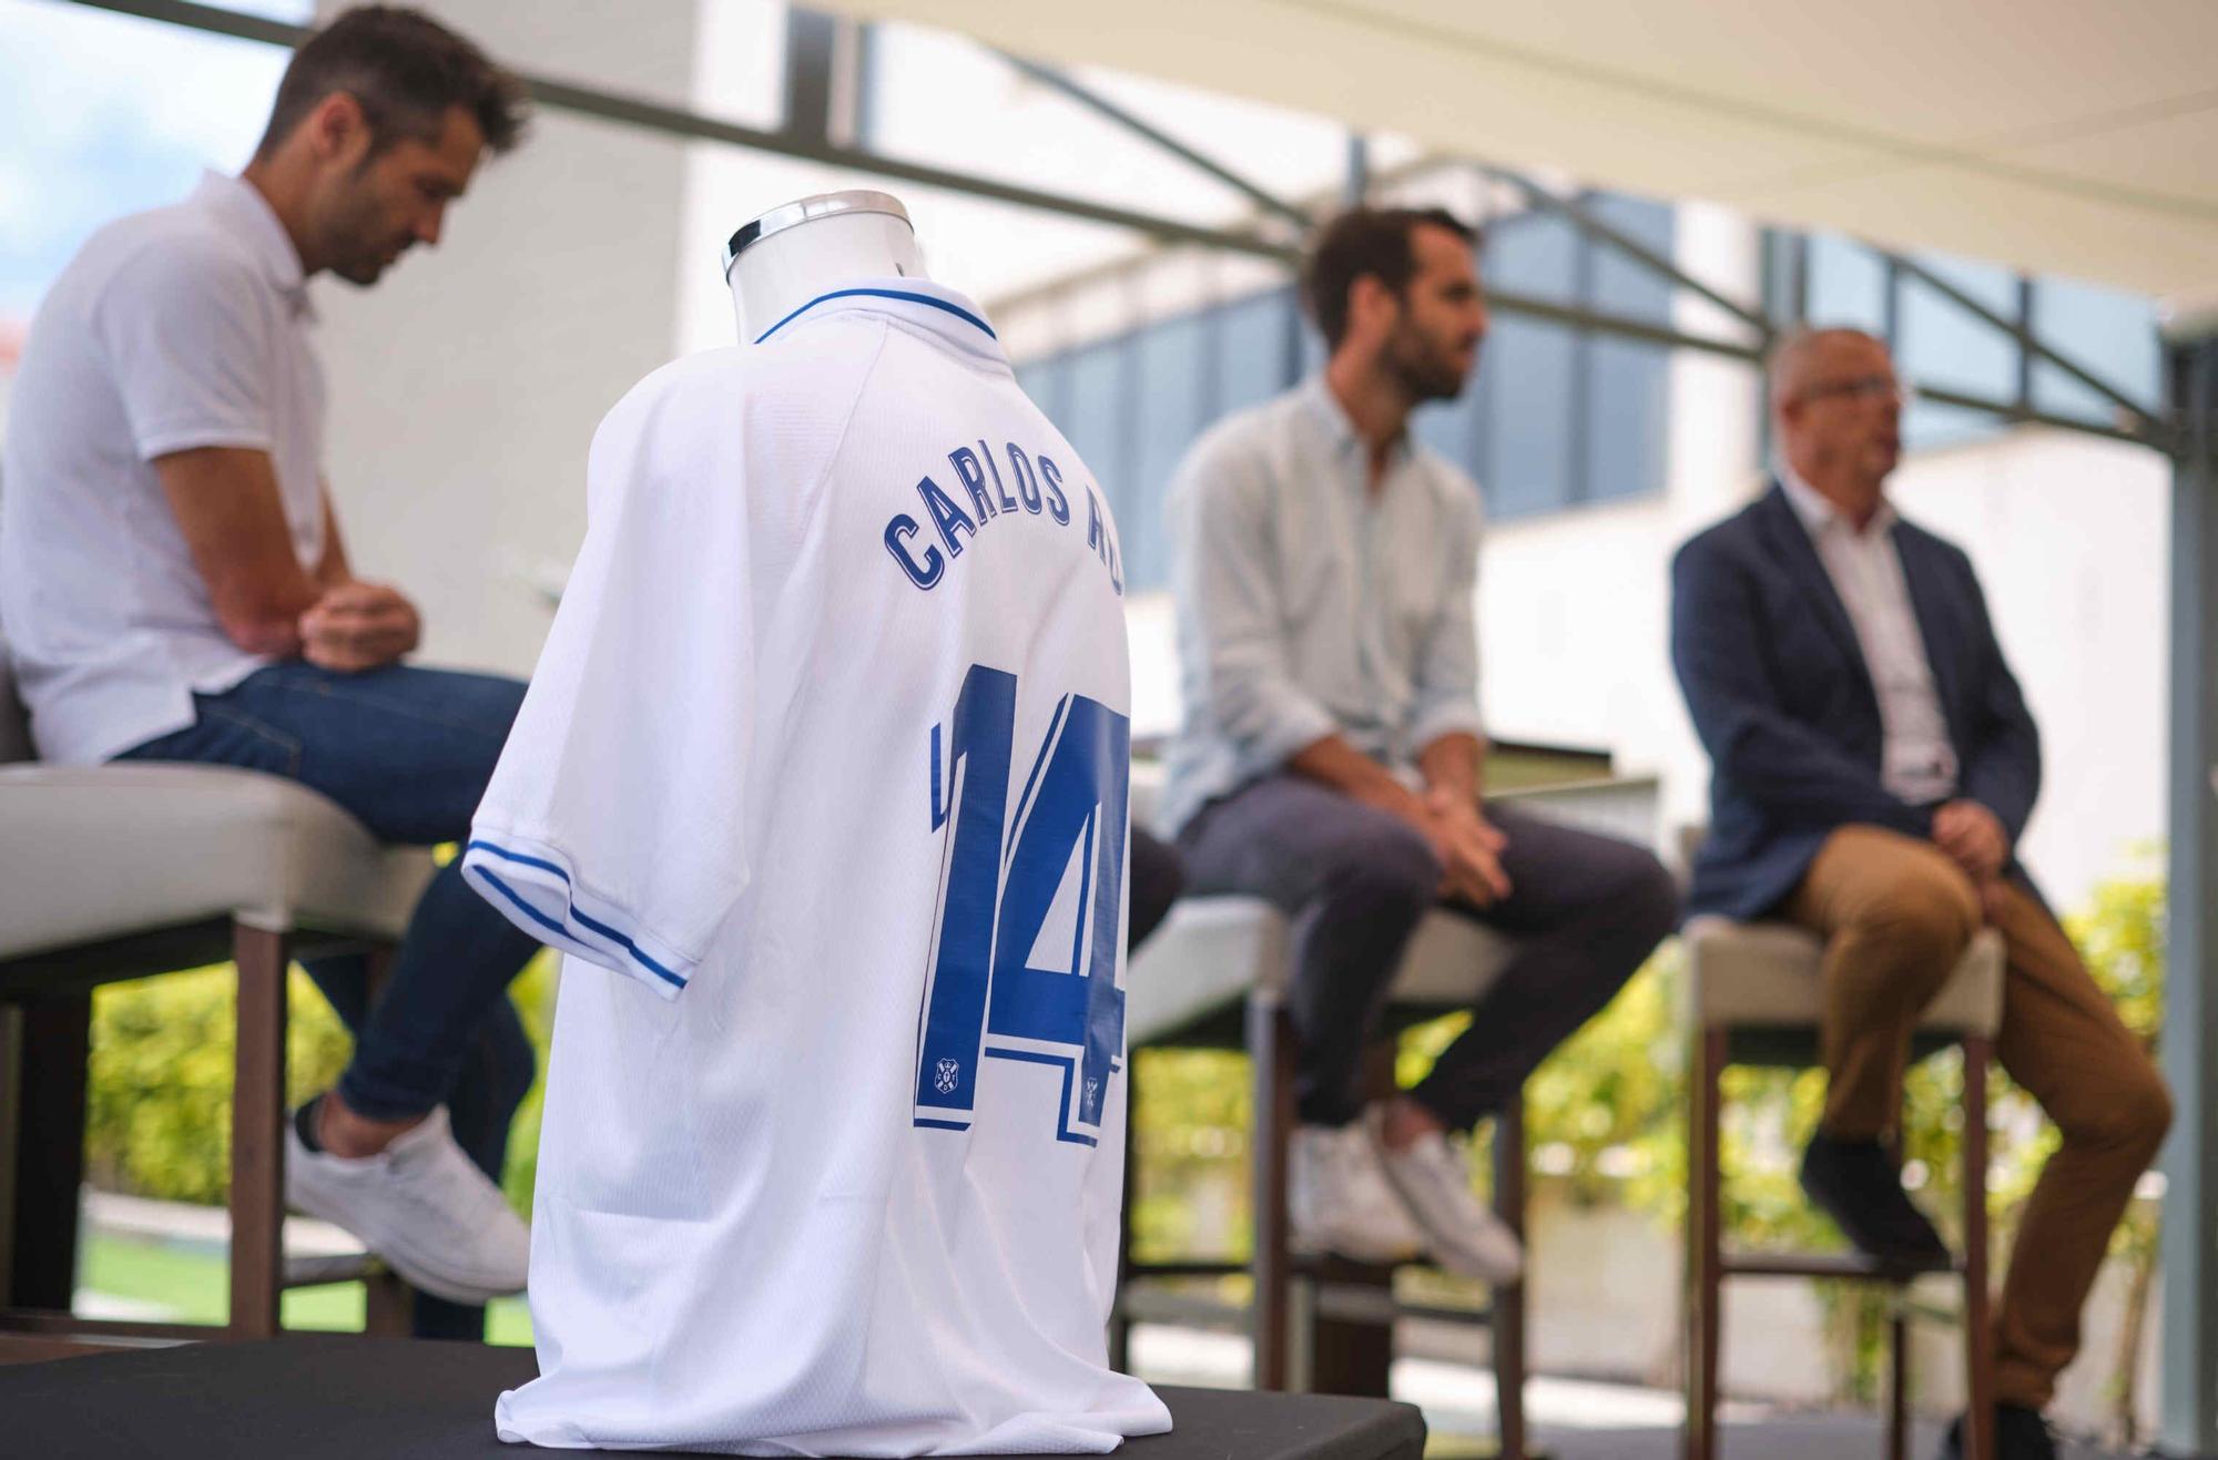
POLYGON ((1302 1038, 1300 1116, 1362 1112, 1357 1069, 1417 923, 1448 908, 1510 934, 1517 952, 1415 1096, 1455 1129, 1497 1112, 1550 1050, 1593 1018, 1679 919, 1679 892, 1644 848, 1488 803, 1510 896, 1439 899, 1439 859, 1415 828, 1315 781, 1264 777, 1211 801, 1178 834, 1187 890, 1262 896, 1293 919, 1291 1014, 1302 1038))

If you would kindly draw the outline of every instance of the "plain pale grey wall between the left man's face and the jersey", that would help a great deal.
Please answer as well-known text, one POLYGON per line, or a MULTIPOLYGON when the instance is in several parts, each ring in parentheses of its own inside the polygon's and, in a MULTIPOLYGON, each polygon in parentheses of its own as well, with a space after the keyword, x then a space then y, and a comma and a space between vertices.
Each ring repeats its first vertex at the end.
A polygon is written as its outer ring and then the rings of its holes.
MULTIPOLYGON (((497 60, 685 95, 690 7, 435 0, 497 60), (528 51, 523 51, 528 47, 528 51)), ((355 572, 424 610, 424 663, 523 675, 586 526, 601 415, 672 355, 685 149, 541 111, 448 211, 439 249, 315 284, 326 462, 355 572)))

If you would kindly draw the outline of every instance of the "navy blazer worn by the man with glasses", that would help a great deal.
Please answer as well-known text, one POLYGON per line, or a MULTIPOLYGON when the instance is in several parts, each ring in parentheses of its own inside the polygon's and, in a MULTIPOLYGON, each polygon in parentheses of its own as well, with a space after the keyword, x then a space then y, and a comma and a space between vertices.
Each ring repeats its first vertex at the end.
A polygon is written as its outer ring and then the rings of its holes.
MULTIPOLYGON (((1907 521, 1896 521, 1894 548, 1956 748, 1956 794, 1992 810, 2016 845, 2041 792, 2041 734, 1972 559, 1907 521)), ((1777 481, 1679 548, 1670 657, 1710 752, 1710 832, 1695 854, 1690 914, 1768 914, 1848 823, 1932 834, 1932 808, 1879 781, 1879 694, 1856 628, 1777 481)))

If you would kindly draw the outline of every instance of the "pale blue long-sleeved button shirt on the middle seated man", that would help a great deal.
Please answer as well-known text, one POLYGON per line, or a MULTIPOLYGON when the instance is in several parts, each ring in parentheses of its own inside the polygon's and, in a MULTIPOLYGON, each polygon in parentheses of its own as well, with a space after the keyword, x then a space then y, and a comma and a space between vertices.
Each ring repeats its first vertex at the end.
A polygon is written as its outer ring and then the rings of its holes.
POLYGON ((1333 732, 1393 770, 1442 734, 1479 734, 1479 488, 1406 435, 1375 495, 1366 477, 1322 375, 1180 462, 1167 830, 1333 732))

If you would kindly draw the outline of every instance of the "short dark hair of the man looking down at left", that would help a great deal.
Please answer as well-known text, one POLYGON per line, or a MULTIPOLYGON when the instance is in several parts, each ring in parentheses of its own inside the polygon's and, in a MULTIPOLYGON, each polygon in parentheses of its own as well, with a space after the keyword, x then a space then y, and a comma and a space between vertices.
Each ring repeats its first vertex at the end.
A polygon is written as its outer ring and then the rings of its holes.
POLYGON ((472 42, 424 11, 364 4, 293 51, 255 155, 273 153, 333 91, 362 104, 377 153, 401 138, 437 138, 450 107, 468 111, 486 146, 506 153, 523 140, 530 115, 523 82, 472 42))

